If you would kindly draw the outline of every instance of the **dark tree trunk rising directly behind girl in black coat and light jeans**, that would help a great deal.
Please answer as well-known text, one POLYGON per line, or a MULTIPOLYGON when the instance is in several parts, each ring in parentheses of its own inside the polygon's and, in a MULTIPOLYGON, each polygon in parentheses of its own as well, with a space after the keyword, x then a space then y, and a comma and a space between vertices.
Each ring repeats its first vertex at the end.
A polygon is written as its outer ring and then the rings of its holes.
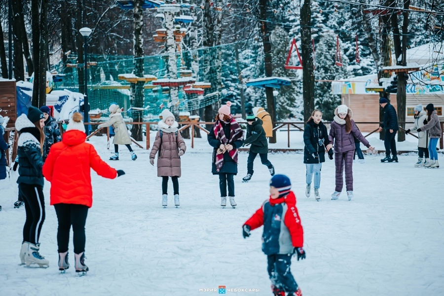
POLYGON ((314 67, 313 48, 311 44, 311 0, 304 0, 300 10, 300 43, 302 49, 302 87, 304 99, 304 121, 314 110, 314 67))

